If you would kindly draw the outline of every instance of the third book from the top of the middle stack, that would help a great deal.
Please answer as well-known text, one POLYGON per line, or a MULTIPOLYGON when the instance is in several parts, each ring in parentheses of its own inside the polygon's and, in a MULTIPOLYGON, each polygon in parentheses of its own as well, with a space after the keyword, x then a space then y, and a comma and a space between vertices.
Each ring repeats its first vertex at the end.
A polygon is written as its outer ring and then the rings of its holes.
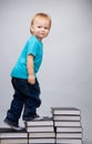
POLYGON ((45 133, 44 133, 44 132, 40 132, 40 133, 37 133, 37 132, 35 132, 35 133, 29 133, 29 138, 34 138, 34 137, 40 137, 40 138, 42 138, 42 137, 43 137, 43 138, 44 138, 44 137, 45 137, 45 138, 47 138, 47 137, 50 138, 50 137, 51 137, 51 138, 52 138, 52 137, 55 137, 55 133, 54 133, 54 132, 51 132, 51 133, 50 133, 50 132, 45 132, 45 133))

